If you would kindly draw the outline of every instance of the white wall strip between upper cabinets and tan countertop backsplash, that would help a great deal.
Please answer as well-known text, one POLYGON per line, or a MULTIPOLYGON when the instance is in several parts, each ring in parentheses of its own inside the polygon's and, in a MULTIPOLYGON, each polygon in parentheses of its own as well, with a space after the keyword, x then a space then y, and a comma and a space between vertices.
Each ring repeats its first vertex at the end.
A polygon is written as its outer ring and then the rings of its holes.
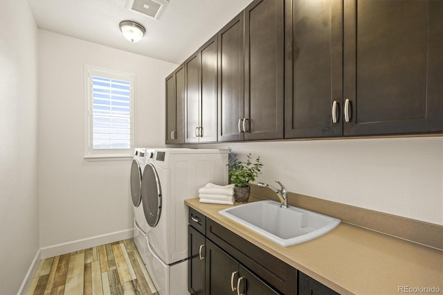
POLYGON ((443 225, 443 137, 226 143, 264 163, 258 181, 443 225))

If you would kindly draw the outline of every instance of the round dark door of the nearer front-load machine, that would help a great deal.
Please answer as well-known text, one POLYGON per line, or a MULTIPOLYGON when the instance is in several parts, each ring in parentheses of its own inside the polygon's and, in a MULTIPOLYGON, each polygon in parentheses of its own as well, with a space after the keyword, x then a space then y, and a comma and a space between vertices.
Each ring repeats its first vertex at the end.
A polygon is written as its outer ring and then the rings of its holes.
POLYGON ((152 163, 148 163, 143 170, 141 199, 147 224, 151 227, 156 226, 161 215, 161 186, 159 175, 152 163))

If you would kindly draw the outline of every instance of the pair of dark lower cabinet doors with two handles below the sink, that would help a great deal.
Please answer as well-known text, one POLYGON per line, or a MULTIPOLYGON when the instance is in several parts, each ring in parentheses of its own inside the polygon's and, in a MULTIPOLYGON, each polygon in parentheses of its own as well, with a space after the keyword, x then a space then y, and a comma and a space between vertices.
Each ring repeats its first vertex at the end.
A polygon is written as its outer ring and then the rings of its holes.
POLYGON ((206 240, 206 294, 275 295, 271 287, 206 240))

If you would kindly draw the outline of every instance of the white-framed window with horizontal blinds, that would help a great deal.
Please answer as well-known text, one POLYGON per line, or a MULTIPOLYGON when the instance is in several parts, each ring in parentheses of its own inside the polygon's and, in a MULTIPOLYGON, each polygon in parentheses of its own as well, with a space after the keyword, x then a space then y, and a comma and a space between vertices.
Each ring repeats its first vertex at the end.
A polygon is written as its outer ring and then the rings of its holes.
POLYGON ((132 156, 134 75, 84 66, 85 157, 132 156))

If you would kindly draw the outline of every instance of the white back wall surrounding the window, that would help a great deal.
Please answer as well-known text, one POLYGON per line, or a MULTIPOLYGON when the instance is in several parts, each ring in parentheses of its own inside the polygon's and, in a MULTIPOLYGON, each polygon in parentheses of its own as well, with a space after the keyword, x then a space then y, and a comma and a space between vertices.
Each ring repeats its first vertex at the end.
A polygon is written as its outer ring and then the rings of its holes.
POLYGON ((136 75, 136 145, 164 146, 164 79, 175 64, 39 30, 42 248, 133 227, 132 159, 84 159, 84 64, 136 75))

